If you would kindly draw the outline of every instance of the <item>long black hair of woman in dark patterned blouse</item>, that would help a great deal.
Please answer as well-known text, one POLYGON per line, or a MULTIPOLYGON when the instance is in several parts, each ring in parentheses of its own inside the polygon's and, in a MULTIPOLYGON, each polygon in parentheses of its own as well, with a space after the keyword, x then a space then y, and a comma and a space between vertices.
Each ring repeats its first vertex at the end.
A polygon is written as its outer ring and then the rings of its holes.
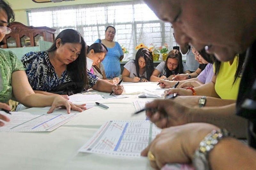
POLYGON ((60 39, 61 44, 65 43, 80 43, 82 45, 81 53, 77 59, 67 65, 67 71, 70 74, 73 82, 77 82, 84 87, 88 84, 87 71, 86 71, 86 58, 85 58, 85 46, 84 38, 73 29, 63 30, 57 35, 52 46, 47 50, 48 52, 54 52, 57 50, 56 41, 60 39))

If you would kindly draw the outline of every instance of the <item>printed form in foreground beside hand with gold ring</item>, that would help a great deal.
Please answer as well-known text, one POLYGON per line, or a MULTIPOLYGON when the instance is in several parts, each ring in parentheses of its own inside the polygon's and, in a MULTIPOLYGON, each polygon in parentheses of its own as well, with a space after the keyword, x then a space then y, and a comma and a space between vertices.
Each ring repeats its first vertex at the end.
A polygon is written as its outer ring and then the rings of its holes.
POLYGON ((149 121, 109 121, 80 148, 80 152, 140 157, 161 129, 149 121))

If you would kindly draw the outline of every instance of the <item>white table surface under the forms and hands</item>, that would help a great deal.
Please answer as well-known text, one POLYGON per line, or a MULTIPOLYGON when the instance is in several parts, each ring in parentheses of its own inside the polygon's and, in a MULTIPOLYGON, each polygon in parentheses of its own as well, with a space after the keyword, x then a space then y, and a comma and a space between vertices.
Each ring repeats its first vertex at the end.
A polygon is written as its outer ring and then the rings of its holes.
MULTIPOLYGON (((157 87, 156 84, 124 83, 126 93, 133 91, 134 95, 124 99, 98 101, 108 105, 109 109, 97 106, 85 110, 52 132, 0 132, 0 169, 151 169, 145 157, 126 158, 80 153, 78 149, 106 121, 145 120, 146 116, 143 113, 131 116, 135 111, 132 101, 147 100, 138 99, 138 94, 147 92, 145 88, 157 87)), ((33 107, 23 112, 47 112, 47 110, 33 107)))

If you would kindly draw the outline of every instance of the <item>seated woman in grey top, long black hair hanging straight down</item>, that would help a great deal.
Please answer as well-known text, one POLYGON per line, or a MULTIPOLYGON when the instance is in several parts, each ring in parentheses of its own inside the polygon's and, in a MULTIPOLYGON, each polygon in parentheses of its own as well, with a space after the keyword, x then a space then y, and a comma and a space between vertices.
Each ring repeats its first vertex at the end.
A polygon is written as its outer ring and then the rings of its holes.
POLYGON ((152 53, 147 48, 140 48, 135 60, 130 60, 124 65, 122 78, 125 82, 147 82, 153 70, 152 53))

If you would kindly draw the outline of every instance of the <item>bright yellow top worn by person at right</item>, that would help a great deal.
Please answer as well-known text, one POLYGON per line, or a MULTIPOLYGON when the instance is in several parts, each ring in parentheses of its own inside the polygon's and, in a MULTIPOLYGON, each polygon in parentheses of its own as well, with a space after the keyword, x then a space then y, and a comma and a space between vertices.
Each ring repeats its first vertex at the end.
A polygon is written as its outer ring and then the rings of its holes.
MULTIPOLYGON (((215 91, 221 99, 236 100, 241 77, 238 77, 234 82, 236 68, 238 65, 238 56, 234 58, 233 63, 230 65, 228 62, 221 62, 220 71, 216 77, 215 91)), ((215 72, 215 65, 213 67, 215 72)))

